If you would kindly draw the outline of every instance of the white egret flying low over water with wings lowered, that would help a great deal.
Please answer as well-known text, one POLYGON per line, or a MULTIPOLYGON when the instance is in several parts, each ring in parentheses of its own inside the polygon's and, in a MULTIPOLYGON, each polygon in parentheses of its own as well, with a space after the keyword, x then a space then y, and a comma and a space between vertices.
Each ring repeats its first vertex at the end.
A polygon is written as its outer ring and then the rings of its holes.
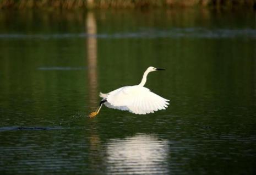
POLYGON ((140 84, 120 87, 119 89, 108 92, 107 94, 102 94, 100 92, 100 97, 102 97, 100 105, 95 112, 90 113, 89 117, 96 116, 100 112, 103 104, 109 108, 129 111, 135 114, 147 114, 154 113, 158 110, 165 110, 168 107, 167 105, 169 105, 167 102, 169 100, 154 94, 148 88, 144 87, 146 83, 146 76, 148 76, 150 72, 156 70, 165 69, 149 67, 144 72, 140 84))

